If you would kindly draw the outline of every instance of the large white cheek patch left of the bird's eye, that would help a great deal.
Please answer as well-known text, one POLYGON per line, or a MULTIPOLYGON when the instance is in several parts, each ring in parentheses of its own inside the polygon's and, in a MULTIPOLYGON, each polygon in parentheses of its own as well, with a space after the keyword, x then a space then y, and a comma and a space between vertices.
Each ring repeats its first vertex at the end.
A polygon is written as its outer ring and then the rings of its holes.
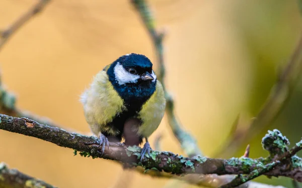
POLYGON ((138 75, 130 74, 119 62, 114 67, 114 75, 119 85, 136 83, 139 79, 138 75))

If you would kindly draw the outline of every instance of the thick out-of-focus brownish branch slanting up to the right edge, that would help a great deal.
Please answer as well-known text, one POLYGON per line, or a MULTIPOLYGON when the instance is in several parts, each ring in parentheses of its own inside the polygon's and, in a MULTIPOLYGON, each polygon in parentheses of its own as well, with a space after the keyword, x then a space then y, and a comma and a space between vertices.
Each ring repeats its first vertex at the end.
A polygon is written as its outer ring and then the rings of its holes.
POLYGON ((232 155, 244 141, 249 141, 255 134, 269 126, 282 111, 286 102, 292 94, 293 88, 302 73, 302 35, 298 44, 285 65, 283 71, 271 89, 265 104, 260 112, 253 118, 247 129, 237 129, 232 137, 226 141, 225 146, 215 156, 232 155))

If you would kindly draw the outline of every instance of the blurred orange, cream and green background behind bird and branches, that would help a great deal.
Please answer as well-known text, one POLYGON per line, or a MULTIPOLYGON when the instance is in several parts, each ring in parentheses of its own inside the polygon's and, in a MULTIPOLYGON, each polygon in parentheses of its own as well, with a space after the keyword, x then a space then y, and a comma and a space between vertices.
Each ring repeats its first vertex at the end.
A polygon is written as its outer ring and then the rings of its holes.
MULTIPOLYGON (((144 54, 158 66, 152 42, 129 2, 52 1, 16 32, 0 53, 0 68, 3 83, 17 95, 17 106, 89 134, 79 97, 97 72, 128 53, 144 54)), ((204 154, 213 156, 239 113, 257 114, 296 46, 302 29, 297 2, 148 2, 158 28, 168 32, 166 81, 176 112, 204 154)), ((1 0, 0 28, 35 3, 1 0)), ((299 81, 278 118, 250 142, 250 156, 267 155, 261 138, 268 129, 279 129, 291 145, 297 142, 301 106, 299 81)), ((166 117, 150 138, 152 146, 160 132, 163 150, 184 154, 166 117)), ((247 144, 232 156, 241 156, 247 144)), ((0 161, 59 187, 111 187, 122 173, 113 161, 73 156, 71 149, 2 130, 0 151, 0 161)), ((129 187, 163 187, 169 181, 136 172, 131 178, 129 187)), ((256 180, 292 187, 285 177, 256 180)))

